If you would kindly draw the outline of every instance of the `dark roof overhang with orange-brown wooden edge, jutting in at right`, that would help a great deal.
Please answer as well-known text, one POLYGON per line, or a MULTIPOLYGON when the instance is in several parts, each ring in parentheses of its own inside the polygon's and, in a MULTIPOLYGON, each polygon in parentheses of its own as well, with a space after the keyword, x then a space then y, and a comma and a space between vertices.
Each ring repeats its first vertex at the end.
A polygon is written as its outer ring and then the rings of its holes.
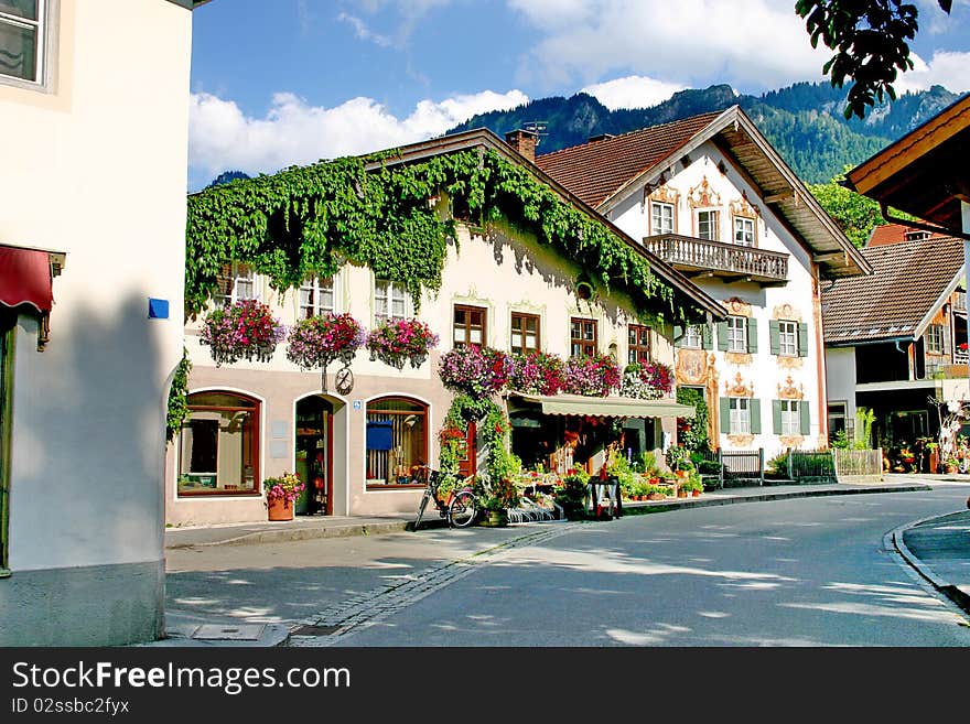
POLYGON ((970 94, 845 174, 844 186, 950 234, 970 203, 970 94))

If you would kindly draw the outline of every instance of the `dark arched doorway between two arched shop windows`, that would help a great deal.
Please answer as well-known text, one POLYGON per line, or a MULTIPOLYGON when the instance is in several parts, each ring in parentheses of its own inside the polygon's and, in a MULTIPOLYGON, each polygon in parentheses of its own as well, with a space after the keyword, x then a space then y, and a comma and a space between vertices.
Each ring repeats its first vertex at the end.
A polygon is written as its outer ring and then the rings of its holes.
POLYGON ((305 493, 297 515, 333 515, 333 404, 312 395, 297 400, 295 466, 305 493))

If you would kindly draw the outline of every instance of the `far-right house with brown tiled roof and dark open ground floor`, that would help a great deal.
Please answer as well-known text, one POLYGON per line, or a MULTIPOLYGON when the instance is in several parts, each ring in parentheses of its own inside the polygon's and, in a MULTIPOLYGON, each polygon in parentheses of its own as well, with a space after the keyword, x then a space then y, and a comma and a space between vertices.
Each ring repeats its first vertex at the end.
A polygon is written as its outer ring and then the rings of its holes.
POLYGON ((862 250, 871 277, 822 288, 830 434, 854 435, 855 411, 875 414, 873 445, 936 435, 931 400, 967 396, 967 294, 953 237, 862 250))

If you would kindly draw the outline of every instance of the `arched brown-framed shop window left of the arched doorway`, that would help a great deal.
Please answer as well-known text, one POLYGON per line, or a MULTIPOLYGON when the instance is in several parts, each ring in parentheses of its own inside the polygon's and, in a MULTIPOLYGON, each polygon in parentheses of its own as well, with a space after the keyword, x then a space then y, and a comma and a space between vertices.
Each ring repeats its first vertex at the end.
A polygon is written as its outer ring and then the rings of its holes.
POLYGON ((187 403, 179 495, 259 495, 259 401, 213 391, 190 395, 187 403))

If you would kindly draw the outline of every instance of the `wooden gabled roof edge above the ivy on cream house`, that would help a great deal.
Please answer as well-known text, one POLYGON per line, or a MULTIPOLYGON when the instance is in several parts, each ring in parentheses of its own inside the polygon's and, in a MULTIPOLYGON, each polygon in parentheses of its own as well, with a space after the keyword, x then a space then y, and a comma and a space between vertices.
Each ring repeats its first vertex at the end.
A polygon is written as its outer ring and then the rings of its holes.
POLYGON ((596 223, 608 227, 612 233, 644 257, 650 263, 651 273, 671 287, 676 293, 689 298, 693 304, 711 314, 713 318, 724 318, 724 306, 720 302, 716 302, 700 287, 670 267, 658 256, 648 251, 642 244, 635 241, 629 235, 615 226, 605 216, 597 214, 589 204, 583 202, 552 176, 547 174, 539 166, 521 155, 518 151, 486 128, 473 129, 460 133, 452 133, 450 136, 442 136, 429 141, 419 141, 409 145, 397 147, 392 151, 379 153, 378 155, 381 156, 380 160, 371 162, 368 168, 375 169, 379 165, 394 165, 395 163, 420 161, 441 153, 450 153, 467 149, 491 149, 504 155, 513 163, 528 168, 539 181, 551 187, 560 197, 568 203, 575 205, 582 213, 586 214, 596 223))

